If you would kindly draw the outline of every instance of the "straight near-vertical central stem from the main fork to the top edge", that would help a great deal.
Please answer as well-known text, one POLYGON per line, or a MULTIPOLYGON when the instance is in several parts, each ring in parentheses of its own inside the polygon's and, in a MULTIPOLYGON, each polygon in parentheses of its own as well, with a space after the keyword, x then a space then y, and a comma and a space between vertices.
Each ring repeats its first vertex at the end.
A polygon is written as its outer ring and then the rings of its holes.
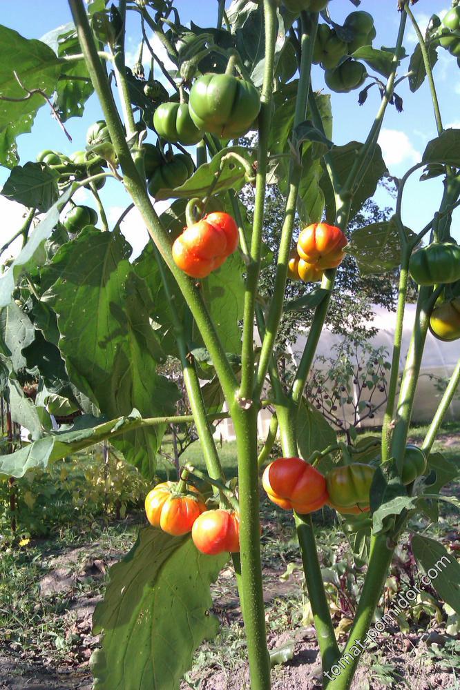
MULTIPOLYGON (((240 397, 251 399, 254 380, 254 311, 256 307, 257 283, 260 273, 262 229, 264 223, 265 186, 267 181, 267 159, 269 133, 272 115, 273 78, 278 19, 274 0, 264 0, 265 19, 265 67, 262 85, 261 107, 258 118, 258 152, 256 175, 256 198, 251 235, 250 261, 247 266, 245 304, 243 306, 243 333, 241 349, 240 397)), ((255 401, 257 404, 257 401, 255 401)))

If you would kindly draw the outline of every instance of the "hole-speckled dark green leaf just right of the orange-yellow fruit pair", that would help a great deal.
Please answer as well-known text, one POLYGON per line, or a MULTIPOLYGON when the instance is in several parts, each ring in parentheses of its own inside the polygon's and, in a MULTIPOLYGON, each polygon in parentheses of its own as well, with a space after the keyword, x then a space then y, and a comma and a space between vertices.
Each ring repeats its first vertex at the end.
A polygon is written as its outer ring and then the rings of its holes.
POLYGON ((394 217, 355 230, 346 251, 356 259, 361 275, 380 275, 399 266, 401 242, 394 217))

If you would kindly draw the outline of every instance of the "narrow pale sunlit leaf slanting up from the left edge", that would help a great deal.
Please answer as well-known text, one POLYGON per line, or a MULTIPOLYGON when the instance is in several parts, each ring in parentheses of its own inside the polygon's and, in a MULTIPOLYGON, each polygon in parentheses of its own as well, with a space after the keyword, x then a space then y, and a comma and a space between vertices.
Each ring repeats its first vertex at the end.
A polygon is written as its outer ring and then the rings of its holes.
POLYGON ((68 188, 54 206, 50 208, 35 230, 33 230, 28 243, 21 249, 10 268, 0 276, 0 308, 10 304, 12 292, 21 275, 26 273, 27 270, 36 269, 37 266, 41 266, 46 262, 45 242, 50 237, 53 228, 55 228, 59 220, 59 213, 61 213, 62 208, 64 208, 72 194, 72 187, 68 188))

